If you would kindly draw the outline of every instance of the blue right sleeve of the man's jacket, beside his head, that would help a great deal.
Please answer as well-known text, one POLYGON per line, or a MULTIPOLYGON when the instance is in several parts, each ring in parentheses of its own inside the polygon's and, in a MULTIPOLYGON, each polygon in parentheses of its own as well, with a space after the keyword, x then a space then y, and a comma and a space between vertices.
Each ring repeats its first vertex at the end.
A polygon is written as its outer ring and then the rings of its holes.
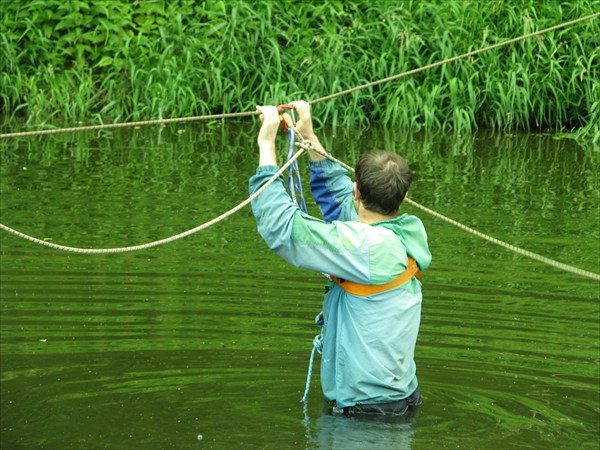
POLYGON ((328 159, 311 161, 310 190, 326 222, 356 220, 352 214, 353 183, 339 164, 328 159))

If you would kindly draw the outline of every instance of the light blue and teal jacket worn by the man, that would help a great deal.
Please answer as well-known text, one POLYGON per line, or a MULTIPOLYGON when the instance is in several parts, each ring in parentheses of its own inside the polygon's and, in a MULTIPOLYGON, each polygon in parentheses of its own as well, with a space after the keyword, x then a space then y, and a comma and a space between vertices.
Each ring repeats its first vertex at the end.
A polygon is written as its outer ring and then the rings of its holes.
MULTIPOLYGON (((311 191, 325 220, 303 213, 278 179, 252 202, 268 246, 297 267, 361 284, 383 284, 404 272, 407 255, 420 269, 431 262, 421 221, 408 214, 368 225, 357 221, 352 181, 329 160, 311 162, 311 191)), ((254 193, 277 171, 258 167, 254 193)), ((368 297, 330 282, 323 301, 321 384, 342 408, 408 397, 417 388, 414 350, 421 316, 421 283, 368 297)))

